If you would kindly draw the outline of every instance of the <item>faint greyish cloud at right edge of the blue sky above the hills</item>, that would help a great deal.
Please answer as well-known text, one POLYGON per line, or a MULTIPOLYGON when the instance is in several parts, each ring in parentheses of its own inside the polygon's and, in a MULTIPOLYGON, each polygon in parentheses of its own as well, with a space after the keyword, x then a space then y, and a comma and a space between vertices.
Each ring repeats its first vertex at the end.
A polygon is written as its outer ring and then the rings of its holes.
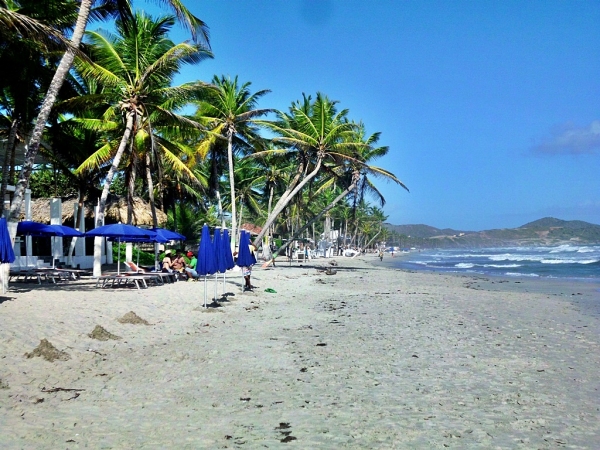
POLYGON ((550 136, 532 150, 545 155, 600 153, 600 120, 594 120, 587 127, 577 127, 573 123, 555 127, 550 136))

